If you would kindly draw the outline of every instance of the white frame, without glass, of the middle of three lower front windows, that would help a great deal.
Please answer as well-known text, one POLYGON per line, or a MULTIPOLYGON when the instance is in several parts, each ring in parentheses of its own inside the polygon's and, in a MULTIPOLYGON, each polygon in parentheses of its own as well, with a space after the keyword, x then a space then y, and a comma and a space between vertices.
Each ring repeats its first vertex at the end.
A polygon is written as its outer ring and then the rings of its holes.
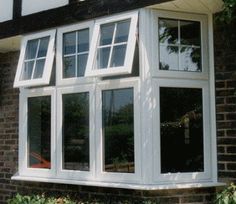
POLYGON ((94 85, 69 86, 57 89, 57 175, 63 179, 93 180, 95 174, 95 98, 94 85), (63 104, 62 96, 64 94, 89 93, 89 171, 62 169, 62 126, 63 126, 63 104))

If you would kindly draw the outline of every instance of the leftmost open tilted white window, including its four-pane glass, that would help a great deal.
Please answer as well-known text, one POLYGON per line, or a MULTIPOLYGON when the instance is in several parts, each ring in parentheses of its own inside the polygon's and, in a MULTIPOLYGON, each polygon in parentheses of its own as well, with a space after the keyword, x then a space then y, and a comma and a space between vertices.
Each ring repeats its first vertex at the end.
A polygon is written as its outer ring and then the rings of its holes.
POLYGON ((56 30, 23 37, 14 87, 48 85, 54 61, 56 30))

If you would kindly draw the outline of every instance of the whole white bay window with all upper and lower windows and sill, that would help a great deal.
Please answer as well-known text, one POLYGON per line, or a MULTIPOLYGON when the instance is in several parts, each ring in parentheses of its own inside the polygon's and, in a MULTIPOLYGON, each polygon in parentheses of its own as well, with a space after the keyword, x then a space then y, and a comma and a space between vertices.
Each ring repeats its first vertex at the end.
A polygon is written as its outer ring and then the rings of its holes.
POLYGON ((141 9, 57 28, 50 84, 36 84, 36 76, 51 75, 53 37, 26 36, 16 74, 23 88, 14 178, 134 189, 213 185, 207 25, 204 15, 141 9))

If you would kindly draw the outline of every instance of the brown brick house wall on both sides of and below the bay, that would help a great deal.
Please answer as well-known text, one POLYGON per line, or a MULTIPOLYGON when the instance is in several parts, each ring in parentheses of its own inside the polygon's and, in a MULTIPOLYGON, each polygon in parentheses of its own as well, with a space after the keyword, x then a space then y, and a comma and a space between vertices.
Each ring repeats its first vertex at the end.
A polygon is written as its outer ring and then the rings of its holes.
MULTIPOLYGON (((216 27, 215 30, 218 165, 221 181, 236 180, 236 35, 232 29, 230 33, 226 33, 227 30, 225 27, 216 27)), ((161 204, 213 203, 215 188, 137 191, 12 181, 11 176, 18 169, 19 91, 13 89, 18 57, 18 52, 0 54, 0 203, 6 203, 16 192, 69 194, 78 199, 106 199, 107 203, 118 203, 118 200, 141 203, 141 200, 148 198, 161 204)))

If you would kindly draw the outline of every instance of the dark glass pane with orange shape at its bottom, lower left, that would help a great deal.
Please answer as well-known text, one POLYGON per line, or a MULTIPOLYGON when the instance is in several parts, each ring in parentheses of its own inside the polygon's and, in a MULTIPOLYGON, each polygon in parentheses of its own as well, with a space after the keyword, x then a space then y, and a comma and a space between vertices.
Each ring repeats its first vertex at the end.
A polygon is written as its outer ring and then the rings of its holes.
POLYGON ((51 97, 28 99, 28 167, 51 168, 51 97))

